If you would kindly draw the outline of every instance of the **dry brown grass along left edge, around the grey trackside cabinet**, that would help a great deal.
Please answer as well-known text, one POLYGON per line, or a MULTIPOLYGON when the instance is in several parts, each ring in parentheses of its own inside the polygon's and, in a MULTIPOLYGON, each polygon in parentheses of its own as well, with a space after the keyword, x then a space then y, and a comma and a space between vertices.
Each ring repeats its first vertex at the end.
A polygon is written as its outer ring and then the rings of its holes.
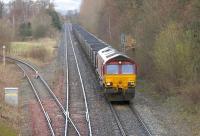
POLYGON ((4 88, 18 87, 21 73, 15 65, 0 62, 0 136, 15 136, 19 132, 20 109, 4 102, 4 88))

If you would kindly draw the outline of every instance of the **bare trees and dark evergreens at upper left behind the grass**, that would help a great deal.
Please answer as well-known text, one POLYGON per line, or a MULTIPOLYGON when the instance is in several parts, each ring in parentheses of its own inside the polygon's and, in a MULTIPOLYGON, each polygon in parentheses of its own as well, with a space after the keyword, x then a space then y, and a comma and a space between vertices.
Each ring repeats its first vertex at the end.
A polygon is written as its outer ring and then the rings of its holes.
POLYGON ((0 1, 0 45, 12 40, 54 37, 59 30, 60 17, 49 0, 0 1))

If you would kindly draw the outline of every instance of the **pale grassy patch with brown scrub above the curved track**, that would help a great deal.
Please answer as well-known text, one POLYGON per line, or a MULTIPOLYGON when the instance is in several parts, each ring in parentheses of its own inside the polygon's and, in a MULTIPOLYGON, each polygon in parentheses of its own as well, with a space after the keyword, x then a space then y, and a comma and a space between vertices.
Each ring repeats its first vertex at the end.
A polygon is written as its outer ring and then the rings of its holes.
POLYGON ((56 40, 49 38, 25 42, 12 42, 9 54, 10 56, 26 59, 33 64, 43 66, 55 56, 56 45, 56 40))

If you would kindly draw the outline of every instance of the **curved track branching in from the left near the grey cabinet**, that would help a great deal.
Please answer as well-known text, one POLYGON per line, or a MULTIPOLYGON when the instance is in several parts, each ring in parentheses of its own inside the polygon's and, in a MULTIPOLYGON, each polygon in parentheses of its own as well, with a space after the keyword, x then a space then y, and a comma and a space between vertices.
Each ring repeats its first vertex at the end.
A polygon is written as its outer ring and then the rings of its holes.
MULTIPOLYGON (((23 60, 19 60, 19 59, 15 59, 15 58, 11 58, 11 57, 6 57, 7 60, 10 60, 10 61, 14 61, 18 67, 24 72, 24 75, 27 77, 33 91, 34 91, 34 94, 37 98, 37 101, 39 102, 40 104, 40 107, 43 111, 43 114, 47 120, 47 124, 49 126, 49 130, 50 130, 50 134, 52 136, 55 136, 55 135, 63 135, 63 132, 61 133, 56 133, 55 130, 58 129, 58 128, 53 128, 53 125, 52 125, 52 121, 51 121, 51 117, 49 116, 48 112, 45 110, 45 106, 44 104, 42 103, 42 100, 40 98, 40 95, 36 89, 36 85, 33 83, 33 80, 31 78, 31 76, 29 75, 30 73, 31 74, 38 74, 38 80, 45 86, 45 88, 47 89, 48 93, 51 95, 51 97, 53 98, 53 101, 56 103, 56 105, 58 106, 59 108, 59 111, 61 112, 61 114, 63 115, 63 117, 65 118, 65 127, 63 127, 64 129, 64 133, 67 134, 67 127, 66 127, 66 124, 68 124, 68 122, 70 122, 73 126, 73 128, 76 130, 77 134, 79 135, 79 132, 78 130, 76 129, 76 126, 75 124, 73 123, 73 121, 71 120, 71 118, 68 116, 68 112, 64 109, 64 106, 61 104, 61 102, 59 101, 59 99, 57 98, 57 96, 54 94, 54 92, 51 90, 51 88, 49 87, 49 85, 47 84, 47 82, 44 80, 44 78, 38 73, 38 70, 36 68, 34 68, 34 66, 32 66, 31 64, 23 61, 23 60), (26 68, 24 68, 24 65, 26 68), (29 70, 28 70, 29 69, 29 70), (27 71, 28 70, 28 71, 27 71), (30 72, 30 70, 32 72, 30 72), (29 74, 28 74, 29 73, 29 74), (67 123, 66 123, 67 122, 67 123)), ((36 83, 38 84, 38 83, 36 83)), ((52 109, 51 109, 52 110, 52 109)), ((55 120, 56 121, 56 120, 55 120)), ((56 127, 56 126, 55 126, 56 127)))

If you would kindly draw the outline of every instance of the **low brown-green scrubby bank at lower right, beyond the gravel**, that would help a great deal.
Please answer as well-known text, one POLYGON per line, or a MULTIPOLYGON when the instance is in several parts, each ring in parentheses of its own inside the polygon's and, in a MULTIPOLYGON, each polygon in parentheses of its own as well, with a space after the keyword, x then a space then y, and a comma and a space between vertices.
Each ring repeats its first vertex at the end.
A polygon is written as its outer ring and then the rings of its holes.
MULTIPOLYGON (((199 94, 191 95, 188 92, 192 91, 191 86, 181 88, 172 88, 169 86, 169 94, 162 94, 156 91, 155 84, 149 81, 138 81, 138 92, 150 97, 157 105, 167 109, 165 113, 168 123, 179 127, 183 130, 184 135, 199 136, 200 134, 200 105, 198 98, 199 94), (179 93, 173 93, 179 92, 179 93), (193 99, 192 99, 193 98, 193 99)), ((199 91, 200 86, 193 86, 193 89, 199 91)))

